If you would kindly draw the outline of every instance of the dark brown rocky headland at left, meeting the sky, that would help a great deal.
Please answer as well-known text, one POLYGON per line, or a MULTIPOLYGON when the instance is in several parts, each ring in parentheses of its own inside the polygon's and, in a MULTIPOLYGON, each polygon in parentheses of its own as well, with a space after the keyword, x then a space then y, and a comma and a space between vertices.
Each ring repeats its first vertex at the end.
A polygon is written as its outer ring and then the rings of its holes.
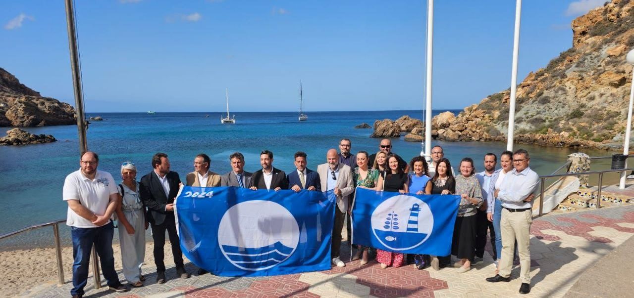
POLYGON ((0 68, 0 127, 41 127, 75 124, 75 109, 65 102, 42 97, 0 68))

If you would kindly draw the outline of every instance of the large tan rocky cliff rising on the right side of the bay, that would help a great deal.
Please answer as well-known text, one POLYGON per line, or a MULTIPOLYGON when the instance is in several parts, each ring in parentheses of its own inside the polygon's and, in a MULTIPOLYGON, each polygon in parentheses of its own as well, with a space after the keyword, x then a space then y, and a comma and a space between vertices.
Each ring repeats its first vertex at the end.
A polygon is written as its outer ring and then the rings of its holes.
MULTIPOLYGON (((623 146, 632 84, 632 66, 625 56, 634 47, 633 6, 634 1, 612 0, 573 21, 573 47, 529 73, 517 87, 516 142, 623 146)), ((506 140, 509 98, 509 89, 492 94, 451 121, 436 121, 432 135, 441 140, 506 140)))

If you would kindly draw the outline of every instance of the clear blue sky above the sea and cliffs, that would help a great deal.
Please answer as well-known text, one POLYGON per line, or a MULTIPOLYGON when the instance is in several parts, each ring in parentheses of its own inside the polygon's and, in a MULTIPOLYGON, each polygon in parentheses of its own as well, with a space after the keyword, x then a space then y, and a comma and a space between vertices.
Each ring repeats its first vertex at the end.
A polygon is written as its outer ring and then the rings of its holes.
MULTIPOLYGON (((518 78, 604 0, 525 0, 518 78)), ((88 112, 420 109, 426 1, 76 0, 88 112)), ((0 67, 74 103, 63 0, 1 0, 0 67)), ((435 1, 434 109, 510 87, 515 1, 435 1)))

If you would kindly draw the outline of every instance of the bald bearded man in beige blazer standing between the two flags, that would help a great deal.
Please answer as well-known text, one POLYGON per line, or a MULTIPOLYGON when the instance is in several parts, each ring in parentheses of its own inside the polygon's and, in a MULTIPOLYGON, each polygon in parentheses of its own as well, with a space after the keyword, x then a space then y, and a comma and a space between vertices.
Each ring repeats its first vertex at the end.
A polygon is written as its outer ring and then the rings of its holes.
POLYGON ((333 190, 337 196, 330 257, 332 264, 337 267, 345 267, 346 264, 339 258, 339 249, 341 247, 341 231, 344 228, 344 219, 349 209, 349 196, 354 192, 353 176, 350 167, 339 162, 339 154, 337 154, 336 149, 328 150, 326 159, 327 163, 317 166, 317 173, 321 180, 321 190, 333 190))

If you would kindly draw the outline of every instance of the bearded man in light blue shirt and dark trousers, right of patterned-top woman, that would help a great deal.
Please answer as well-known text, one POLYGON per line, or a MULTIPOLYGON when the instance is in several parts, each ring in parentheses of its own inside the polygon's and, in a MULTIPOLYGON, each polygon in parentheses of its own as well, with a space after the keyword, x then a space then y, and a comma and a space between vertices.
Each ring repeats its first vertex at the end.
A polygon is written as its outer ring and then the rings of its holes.
MULTIPOLYGON (((493 221, 489 221, 486 214, 489 210, 489 200, 493 197, 491 193, 491 184, 493 182, 493 173, 495 166, 498 164, 498 157, 493 153, 484 154, 484 171, 475 174, 480 187, 482 189, 482 197, 485 198, 484 204, 478 209, 476 216, 477 230, 475 233, 475 260, 474 264, 478 264, 484 257, 484 247, 486 246, 486 231, 489 230, 491 235, 491 247, 493 247, 493 261, 498 259, 497 249, 495 249, 495 229, 493 221)), ((492 200, 491 200, 492 201, 492 200)))

